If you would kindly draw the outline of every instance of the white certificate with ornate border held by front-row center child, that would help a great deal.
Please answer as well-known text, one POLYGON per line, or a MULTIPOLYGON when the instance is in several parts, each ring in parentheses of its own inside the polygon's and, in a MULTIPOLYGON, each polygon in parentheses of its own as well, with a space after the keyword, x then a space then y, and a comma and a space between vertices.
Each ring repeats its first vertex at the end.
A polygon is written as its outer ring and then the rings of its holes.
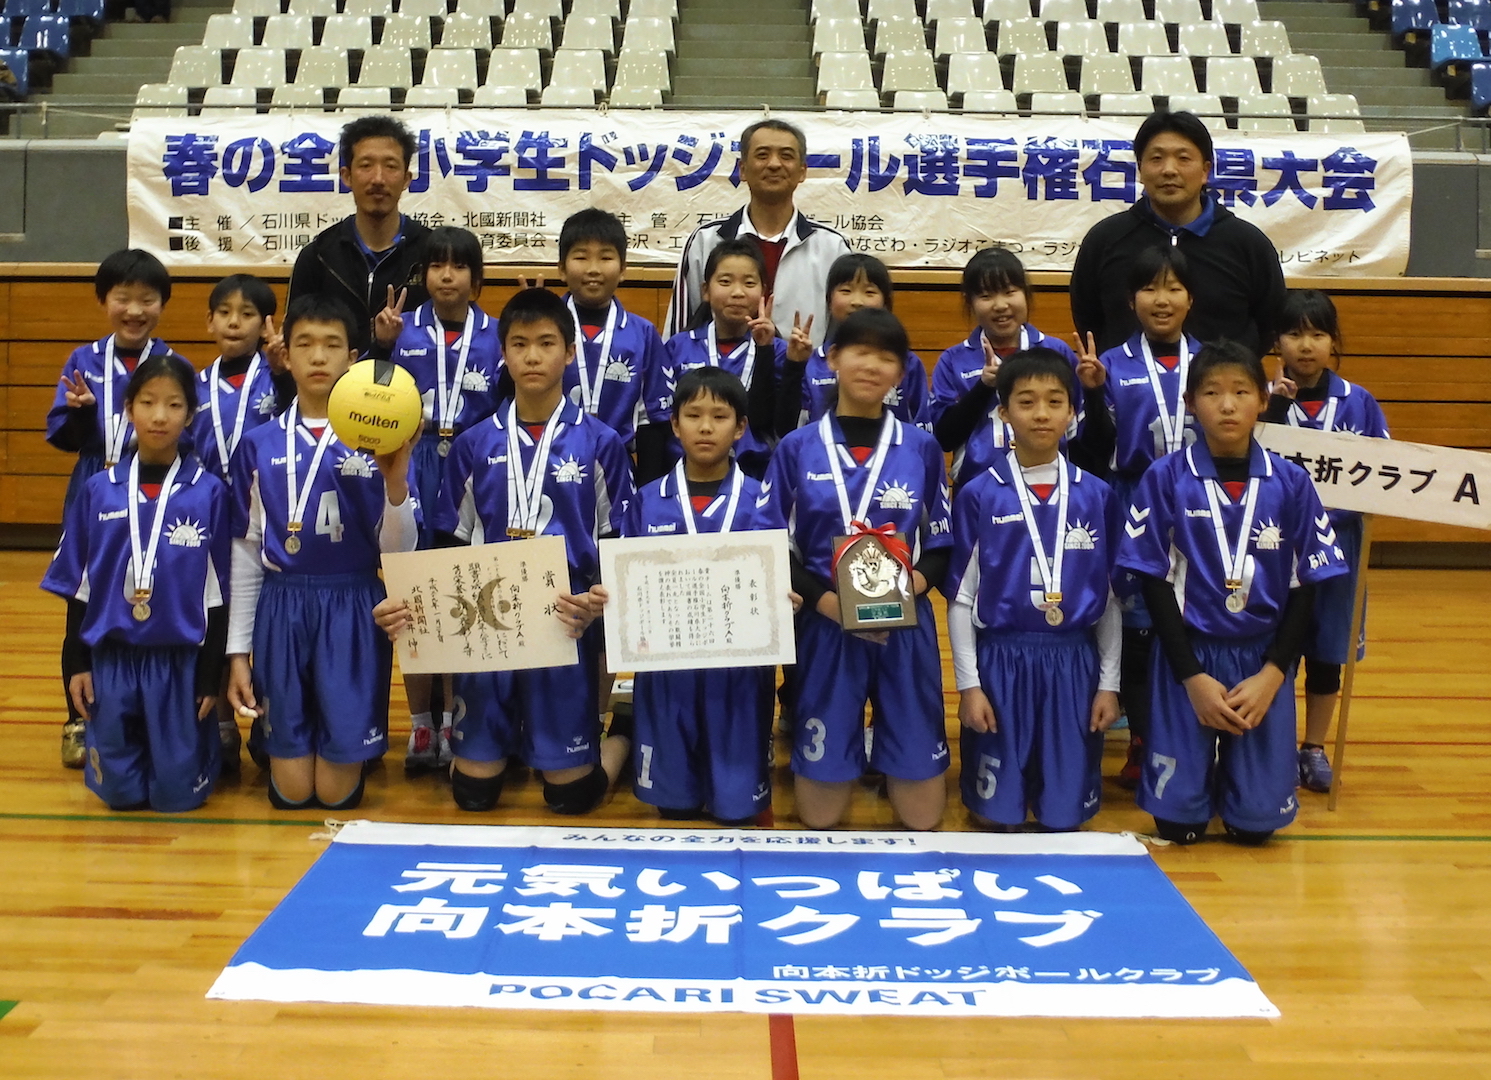
POLYGON ((795 664, 787 531, 601 541, 611 671, 795 664))

